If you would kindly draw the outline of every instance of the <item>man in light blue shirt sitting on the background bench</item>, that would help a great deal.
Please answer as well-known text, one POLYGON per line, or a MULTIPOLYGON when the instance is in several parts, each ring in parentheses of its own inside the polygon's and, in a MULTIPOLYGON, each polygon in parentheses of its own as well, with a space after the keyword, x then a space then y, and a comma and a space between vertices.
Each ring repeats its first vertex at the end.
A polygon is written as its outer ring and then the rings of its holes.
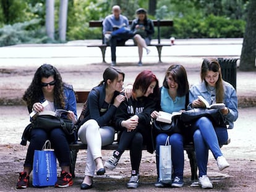
POLYGON ((119 6, 112 7, 112 14, 108 15, 103 20, 103 34, 105 35, 105 43, 109 43, 111 46, 111 66, 116 65, 116 46, 117 44, 125 44, 127 40, 132 38, 133 33, 126 35, 111 36, 111 33, 116 30, 117 27, 129 26, 129 20, 126 16, 121 15, 121 9, 119 6))

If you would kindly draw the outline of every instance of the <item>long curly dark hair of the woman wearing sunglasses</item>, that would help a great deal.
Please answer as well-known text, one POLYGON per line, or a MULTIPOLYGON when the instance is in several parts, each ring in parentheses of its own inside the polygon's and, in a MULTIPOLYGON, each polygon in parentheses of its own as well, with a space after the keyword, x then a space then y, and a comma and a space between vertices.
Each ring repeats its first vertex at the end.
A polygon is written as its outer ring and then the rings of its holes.
POLYGON ((32 83, 30 83, 30 86, 28 86, 23 94, 22 99, 27 103, 28 109, 32 109, 33 104, 39 102, 43 95, 41 79, 50 76, 53 76, 56 81, 54 86, 54 104, 62 109, 65 107, 64 83, 62 82, 61 74, 53 65, 43 64, 36 70, 32 83))

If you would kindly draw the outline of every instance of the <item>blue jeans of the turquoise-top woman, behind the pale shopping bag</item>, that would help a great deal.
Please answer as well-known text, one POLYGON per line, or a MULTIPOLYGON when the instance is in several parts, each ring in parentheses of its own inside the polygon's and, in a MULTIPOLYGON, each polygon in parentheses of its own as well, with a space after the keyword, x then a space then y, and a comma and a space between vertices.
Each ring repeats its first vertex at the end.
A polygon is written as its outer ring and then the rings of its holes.
MULTIPOLYGON (((164 145, 168 135, 160 133, 156 136, 156 169, 159 178, 159 149, 160 145, 164 145)), ((184 148, 183 148, 183 136, 179 133, 174 133, 169 137, 169 143, 171 144, 171 160, 173 162, 174 177, 183 179, 184 170, 184 148)))

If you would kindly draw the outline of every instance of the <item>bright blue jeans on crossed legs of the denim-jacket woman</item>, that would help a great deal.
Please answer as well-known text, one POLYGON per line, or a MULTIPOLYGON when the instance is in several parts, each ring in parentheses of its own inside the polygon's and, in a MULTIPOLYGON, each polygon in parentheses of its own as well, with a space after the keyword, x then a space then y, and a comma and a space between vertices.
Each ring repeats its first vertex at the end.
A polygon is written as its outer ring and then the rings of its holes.
POLYGON ((199 170, 199 177, 207 175, 208 149, 211 150, 215 159, 223 156, 220 145, 228 140, 226 127, 213 127, 207 117, 201 117, 194 124, 195 156, 199 170))

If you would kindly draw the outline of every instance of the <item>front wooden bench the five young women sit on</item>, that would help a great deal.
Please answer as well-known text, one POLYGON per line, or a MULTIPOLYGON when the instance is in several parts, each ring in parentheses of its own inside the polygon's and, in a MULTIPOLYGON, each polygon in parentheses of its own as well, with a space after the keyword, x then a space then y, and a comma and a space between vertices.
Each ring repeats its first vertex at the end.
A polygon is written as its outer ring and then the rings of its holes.
MULTIPOLYGON (((76 96, 77 96, 77 103, 81 104, 84 103, 87 100, 88 94, 90 91, 77 91, 76 96)), ((109 144, 108 146, 103 146, 101 149, 103 150, 111 150, 114 151, 117 149, 118 146, 118 138, 114 140, 112 144, 109 144)), ((225 144, 230 143, 230 139, 225 144)), ((79 152, 79 149, 87 149, 87 145, 83 144, 81 141, 78 141, 75 144, 70 144, 70 173, 72 173, 72 176, 75 177, 75 162, 77 160, 77 152, 79 152)), ((144 146, 143 150, 146 150, 146 147, 144 146)), ((195 160, 195 149, 194 149, 194 144, 189 143, 184 145, 184 150, 187 152, 187 156, 189 158, 190 162, 190 169, 191 169, 191 180, 195 181, 197 180, 197 162, 195 160)))

